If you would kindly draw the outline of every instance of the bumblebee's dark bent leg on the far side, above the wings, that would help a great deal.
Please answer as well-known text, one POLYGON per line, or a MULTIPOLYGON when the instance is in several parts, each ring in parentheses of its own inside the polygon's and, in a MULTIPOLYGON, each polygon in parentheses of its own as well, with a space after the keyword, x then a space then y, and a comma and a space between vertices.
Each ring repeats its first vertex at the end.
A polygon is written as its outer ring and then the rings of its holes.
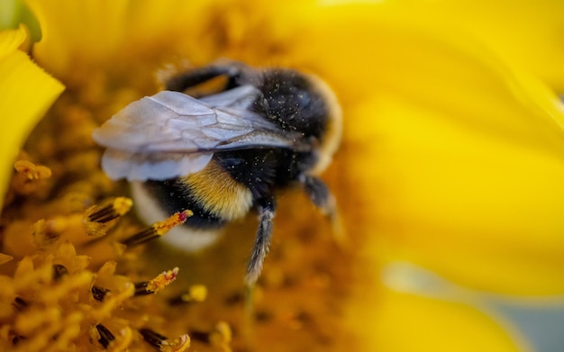
POLYGON ((229 66, 206 66, 205 68, 196 68, 185 73, 178 74, 168 78, 165 81, 165 89, 175 92, 183 92, 192 86, 198 86, 218 76, 227 76, 229 78, 226 89, 238 86, 236 79, 241 75, 241 68, 235 65, 229 66))

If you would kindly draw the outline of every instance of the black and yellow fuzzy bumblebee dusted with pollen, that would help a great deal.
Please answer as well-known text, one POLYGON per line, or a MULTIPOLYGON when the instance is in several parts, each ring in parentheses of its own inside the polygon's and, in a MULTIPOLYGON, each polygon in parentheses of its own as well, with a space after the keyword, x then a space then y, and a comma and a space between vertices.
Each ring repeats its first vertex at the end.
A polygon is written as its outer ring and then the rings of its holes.
POLYGON ((336 214, 317 176, 339 147, 341 109, 321 79, 293 69, 229 62, 178 74, 93 137, 106 148, 105 173, 132 183, 145 221, 194 212, 167 238, 196 239, 189 246, 204 247, 214 241, 214 230, 258 212, 247 284, 256 282, 268 253, 278 191, 299 185, 322 212, 336 214), (185 93, 216 78, 222 83, 209 94, 185 93))

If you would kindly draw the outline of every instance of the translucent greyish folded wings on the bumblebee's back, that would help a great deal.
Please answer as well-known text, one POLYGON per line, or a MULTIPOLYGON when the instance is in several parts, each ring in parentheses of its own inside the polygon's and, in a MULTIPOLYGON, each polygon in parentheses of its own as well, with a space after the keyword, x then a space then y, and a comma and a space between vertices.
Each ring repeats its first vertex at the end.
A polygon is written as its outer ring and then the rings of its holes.
POLYGON ((102 167, 114 179, 164 180, 201 170, 214 151, 300 144, 301 134, 248 110, 259 95, 241 86, 205 100, 162 91, 133 102, 93 133, 107 148, 102 167))

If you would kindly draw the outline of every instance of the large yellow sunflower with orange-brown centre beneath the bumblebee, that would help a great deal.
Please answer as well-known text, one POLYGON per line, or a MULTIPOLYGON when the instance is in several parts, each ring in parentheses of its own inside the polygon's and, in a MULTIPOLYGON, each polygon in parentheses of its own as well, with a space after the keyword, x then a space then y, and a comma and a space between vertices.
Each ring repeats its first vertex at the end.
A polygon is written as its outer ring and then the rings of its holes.
POLYGON ((562 309, 559 1, 26 5, 41 41, 0 37, 4 349, 546 346, 515 312, 562 309), (345 237, 284 194, 252 311, 256 223, 196 256, 132 246, 158 226, 127 213, 91 139, 159 77, 217 59, 323 77, 344 116, 323 179, 345 237))

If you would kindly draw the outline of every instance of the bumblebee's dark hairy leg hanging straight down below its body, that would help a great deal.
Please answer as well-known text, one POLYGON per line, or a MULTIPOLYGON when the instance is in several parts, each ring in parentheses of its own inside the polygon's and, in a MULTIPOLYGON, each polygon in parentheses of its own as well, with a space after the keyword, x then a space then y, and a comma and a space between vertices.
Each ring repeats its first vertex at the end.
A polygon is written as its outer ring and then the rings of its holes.
POLYGON ((262 263, 268 254, 275 208, 274 198, 259 201, 259 230, 257 230, 257 236, 247 266, 247 275, 245 276, 245 282, 250 287, 257 282, 262 270, 262 263))

